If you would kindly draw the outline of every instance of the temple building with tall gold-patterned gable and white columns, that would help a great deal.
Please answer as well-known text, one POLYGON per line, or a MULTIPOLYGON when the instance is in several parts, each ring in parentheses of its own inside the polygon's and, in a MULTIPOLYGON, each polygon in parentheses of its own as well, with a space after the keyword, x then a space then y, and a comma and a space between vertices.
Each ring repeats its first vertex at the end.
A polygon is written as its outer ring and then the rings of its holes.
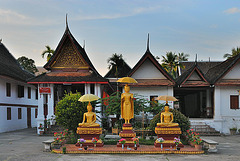
POLYGON ((108 80, 94 68, 85 49, 73 37, 68 25, 44 68, 48 70, 47 73, 28 81, 39 89, 38 124, 43 123, 44 119, 54 117, 55 106, 65 92, 95 94, 101 98, 103 86, 108 85, 108 80))

